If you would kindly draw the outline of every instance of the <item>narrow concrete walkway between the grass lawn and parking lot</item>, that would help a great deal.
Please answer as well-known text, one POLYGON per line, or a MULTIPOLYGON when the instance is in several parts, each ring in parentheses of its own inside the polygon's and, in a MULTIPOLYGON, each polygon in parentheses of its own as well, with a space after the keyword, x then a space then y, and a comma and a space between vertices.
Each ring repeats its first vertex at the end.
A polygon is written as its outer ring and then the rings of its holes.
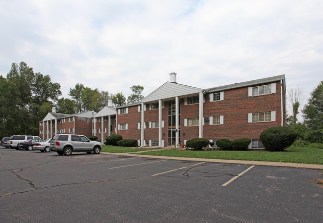
MULTIPOLYGON (((295 164, 295 163, 280 163, 280 162, 267 162, 267 161, 246 161, 246 160, 219 160, 219 159, 203 159, 203 158, 189 158, 189 157, 165 157, 165 156, 152 156, 143 155, 141 152, 138 154, 130 153, 107 153, 101 152, 102 154, 117 155, 117 156, 128 156, 128 157, 145 157, 165 160, 185 160, 185 161, 197 161, 197 162, 213 162, 213 163, 226 163, 226 164, 242 164, 242 165, 256 165, 256 166, 274 166, 274 167, 298 167, 298 168, 309 168, 309 169, 323 169, 323 165, 319 164, 295 164)), ((131 152, 134 153, 134 152, 131 152)))

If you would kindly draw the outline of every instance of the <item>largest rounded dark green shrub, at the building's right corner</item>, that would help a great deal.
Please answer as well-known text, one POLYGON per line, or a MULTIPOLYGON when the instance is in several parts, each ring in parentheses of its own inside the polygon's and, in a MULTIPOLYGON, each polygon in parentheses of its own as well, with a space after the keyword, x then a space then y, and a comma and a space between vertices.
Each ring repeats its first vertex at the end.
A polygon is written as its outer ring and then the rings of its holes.
POLYGON ((268 151, 283 151, 293 145, 298 137, 297 131, 283 126, 268 128, 260 134, 260 140, 268 151))

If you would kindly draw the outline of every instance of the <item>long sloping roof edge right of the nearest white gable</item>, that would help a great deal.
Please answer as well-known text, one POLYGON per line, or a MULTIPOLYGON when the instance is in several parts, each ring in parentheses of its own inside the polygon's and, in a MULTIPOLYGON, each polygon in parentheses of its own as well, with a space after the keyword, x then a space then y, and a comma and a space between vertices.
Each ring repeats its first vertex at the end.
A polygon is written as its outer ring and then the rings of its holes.
POLYGON ((208 88, 208 89, 205 89, 205 91, 206 92, 224 91, 224 90, 229 90, 229 89, 272 83, 272 82, 280 81, 283 79, 285 79, 285 74, 273 76, 273 77, 266 77, 266 78, 262 78, 262 79, 252 80, 252 81, 245 81, 245 82, 241 82, 241 83, 229 84, 229 85, 224 85, 224 86, 215 87, 215 88, 208 88))

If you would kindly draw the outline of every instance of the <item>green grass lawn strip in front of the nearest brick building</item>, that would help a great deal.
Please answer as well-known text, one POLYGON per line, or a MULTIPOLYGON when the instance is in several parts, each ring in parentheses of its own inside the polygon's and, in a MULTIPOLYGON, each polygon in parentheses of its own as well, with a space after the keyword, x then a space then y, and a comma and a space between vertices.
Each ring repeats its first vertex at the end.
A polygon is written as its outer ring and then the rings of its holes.
POLYGON ((290 147, 284 152, 161 150, 148 151, 141 154, 170 157, 193 157, 221 160, 251 160, 323 165, 323 149, 302 147, 290 147))

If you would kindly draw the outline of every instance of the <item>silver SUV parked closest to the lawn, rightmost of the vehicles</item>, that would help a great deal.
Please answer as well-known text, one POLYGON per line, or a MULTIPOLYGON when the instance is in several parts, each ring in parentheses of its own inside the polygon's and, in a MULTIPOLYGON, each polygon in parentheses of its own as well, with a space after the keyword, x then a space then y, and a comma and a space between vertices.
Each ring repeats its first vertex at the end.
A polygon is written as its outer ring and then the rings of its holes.
POLYGON ((59 155, 71 155, 72 152, 86 152, 99 154, 102 145, 100 142, 91 141, 83 135, 56 134, 51 140, 49 148, 59 155))

